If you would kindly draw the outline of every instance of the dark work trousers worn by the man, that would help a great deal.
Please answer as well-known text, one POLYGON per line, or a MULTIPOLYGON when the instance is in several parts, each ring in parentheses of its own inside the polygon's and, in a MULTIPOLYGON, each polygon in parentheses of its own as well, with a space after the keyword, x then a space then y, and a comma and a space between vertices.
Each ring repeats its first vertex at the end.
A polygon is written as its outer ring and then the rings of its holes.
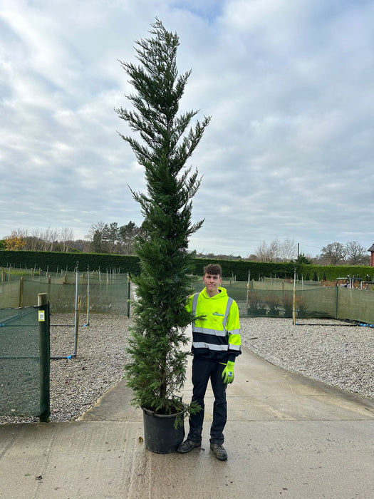
POLYGON ((194 358, 192 361, 192 401, 197 401, 202 408, 197 414, 189 416, 188 438, 194 442, 202 441, 202 423, 204 421, 204 396, 208 381, 214 393, 213 421, 210 428, 210 443, 224 443, 224 426, 227 421, 227 385, 222 381, 225 366, 218 362, 194 358))

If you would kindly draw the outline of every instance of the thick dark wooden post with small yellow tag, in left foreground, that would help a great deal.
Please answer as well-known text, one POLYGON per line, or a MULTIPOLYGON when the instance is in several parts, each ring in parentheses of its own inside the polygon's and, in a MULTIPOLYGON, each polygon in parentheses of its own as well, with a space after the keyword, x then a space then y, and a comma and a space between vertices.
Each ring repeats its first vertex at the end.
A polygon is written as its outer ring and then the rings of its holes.
POLYGON ((51 403, 49 391, 50 344, 48 294, 38 294, 39 354, 40 354, 40 416, 41 423, 49 423, 51 403))

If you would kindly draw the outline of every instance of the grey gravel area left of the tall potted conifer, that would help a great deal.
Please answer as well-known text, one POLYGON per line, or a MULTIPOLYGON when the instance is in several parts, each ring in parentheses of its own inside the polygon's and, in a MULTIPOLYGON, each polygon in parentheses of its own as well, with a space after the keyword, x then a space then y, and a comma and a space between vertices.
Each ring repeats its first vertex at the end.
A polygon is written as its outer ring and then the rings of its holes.
MULTIPOLYGON (((123 378, 131 319, 109 314, 81 317, 77 356, 74 353, 74 314, 51 315, 51 421, 71 421, 95 405, 103 393, 123 378)), ((0 423, 38 421, 32 417, 0 416, 0 423)))

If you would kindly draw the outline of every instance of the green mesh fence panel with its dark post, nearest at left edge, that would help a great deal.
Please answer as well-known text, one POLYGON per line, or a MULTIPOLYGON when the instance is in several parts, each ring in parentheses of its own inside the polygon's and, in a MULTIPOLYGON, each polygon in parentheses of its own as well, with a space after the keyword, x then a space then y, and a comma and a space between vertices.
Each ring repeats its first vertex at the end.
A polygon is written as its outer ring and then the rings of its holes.
POLYGON ((48 305, 0 309, 2 416, 48 418, 49 355, 48 305))

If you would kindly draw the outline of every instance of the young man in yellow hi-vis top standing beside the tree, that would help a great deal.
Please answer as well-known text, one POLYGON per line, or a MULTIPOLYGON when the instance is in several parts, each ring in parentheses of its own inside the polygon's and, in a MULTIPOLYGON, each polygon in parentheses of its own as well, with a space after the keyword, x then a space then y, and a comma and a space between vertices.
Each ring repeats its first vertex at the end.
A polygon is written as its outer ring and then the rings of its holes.
POLYGON ((187 302, 192 313, 192 401, 201 411, 189 417, 187 439, 177 448, 179 453, 192 451, 202 443, 204 396, 210 379, 214 393, 213 421, 210 428, 210 448, 220 461, 227 460, 223 447, 227 421, 227 384, 234 381, 234 362, 240 351, 240 323, 237 303, 220 287, 222 269, 218 264, 204 267, 205 287, 187 302))

